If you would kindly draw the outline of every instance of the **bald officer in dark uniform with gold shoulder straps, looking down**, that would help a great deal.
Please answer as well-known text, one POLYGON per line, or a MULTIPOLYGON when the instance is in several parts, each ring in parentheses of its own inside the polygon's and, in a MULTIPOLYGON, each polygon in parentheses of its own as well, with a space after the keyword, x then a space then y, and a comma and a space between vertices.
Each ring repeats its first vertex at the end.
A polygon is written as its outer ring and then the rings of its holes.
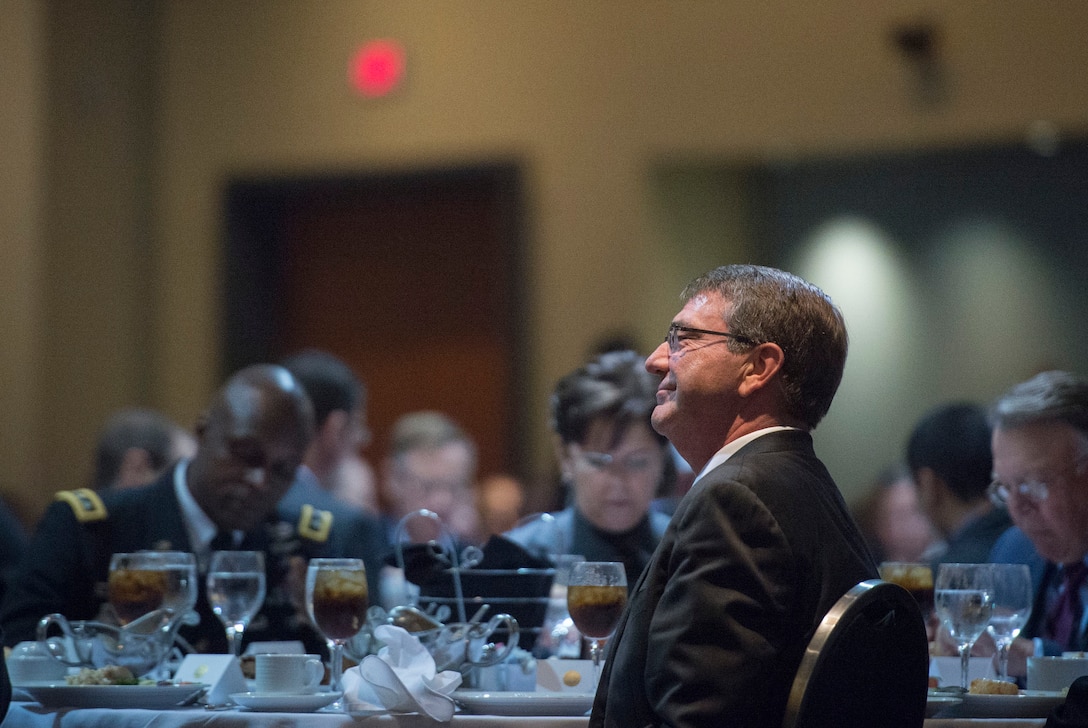
MULTIPOLYGON (((268 596, 246 638, 300 639, 320 649, 301 604, 306 560, 361 554, 344 553, 342 534, 351 523, 334 522, 330 511, 310 504, 277 510, 312 432, 312 408, 297 381, 281 367, 256 365, 217 394, 197 427, 191 460, 143 488, 59 493, 0 607, 5 644, 35 639, 49 613, 98 617, 113 553, 186 551, 203 566, 212 550, 240 548, 264 552, 268 571, 268 596)), ((202 576, 200 582, 200 624, 182 636, 198 651, 225 652, 224 628, 207 604, 202 576)))

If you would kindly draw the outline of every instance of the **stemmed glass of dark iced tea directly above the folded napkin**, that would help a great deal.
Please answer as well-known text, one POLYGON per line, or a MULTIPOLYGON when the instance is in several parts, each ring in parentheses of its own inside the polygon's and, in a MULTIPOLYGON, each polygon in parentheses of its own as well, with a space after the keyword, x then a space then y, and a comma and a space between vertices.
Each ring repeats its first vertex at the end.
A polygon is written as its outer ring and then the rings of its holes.
MULTIPOLYGON (((367 568, 359 558, 311 558, 306 569, 306 608, 313 626, 329 642, 332 670, 329 690, 341 692, 344 643, 367 621, 370 606, 367 568)), ((342 701, 332 705, 343 710, 342 701)))

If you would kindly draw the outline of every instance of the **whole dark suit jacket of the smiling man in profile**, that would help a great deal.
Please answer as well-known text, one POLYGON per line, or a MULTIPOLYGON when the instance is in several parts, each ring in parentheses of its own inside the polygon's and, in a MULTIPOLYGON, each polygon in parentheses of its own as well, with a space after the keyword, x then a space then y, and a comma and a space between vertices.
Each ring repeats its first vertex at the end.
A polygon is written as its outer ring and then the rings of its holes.
POLYGON ((780 724, 819 620, 875 576, 811 436, 758 437, 681 501, 611 640, 591 726, 780 724))

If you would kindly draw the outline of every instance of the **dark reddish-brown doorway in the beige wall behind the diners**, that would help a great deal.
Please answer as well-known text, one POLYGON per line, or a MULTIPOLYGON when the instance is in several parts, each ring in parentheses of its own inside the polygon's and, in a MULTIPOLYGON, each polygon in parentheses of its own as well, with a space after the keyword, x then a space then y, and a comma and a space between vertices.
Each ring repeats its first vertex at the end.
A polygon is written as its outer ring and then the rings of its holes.
POLYGON ((231 183, 228 371, 326 349, 367 384, 371 462, 398 416, 437 409, 482 476, 524 480, 519 189, 512 165, 231 183))

